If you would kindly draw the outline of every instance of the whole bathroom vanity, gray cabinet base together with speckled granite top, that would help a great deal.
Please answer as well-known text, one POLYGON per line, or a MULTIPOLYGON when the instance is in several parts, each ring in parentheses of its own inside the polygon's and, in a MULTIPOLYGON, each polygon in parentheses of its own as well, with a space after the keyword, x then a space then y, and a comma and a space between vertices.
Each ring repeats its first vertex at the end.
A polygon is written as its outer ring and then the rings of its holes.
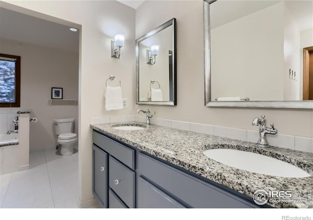
POLYGON ((251 173, 214 161, 202 152, 246 148, 286 162, 291 162, 292 156, 294 165, 312 172, 310 153, 259 148, 251 142, 157 125, 117 130, 113 127, 116 124, 90 126, 93 194, 104 208, 309 207, 305 203, 257 205, 252 196, 258 189, 304 192, 312 189, 312 176, 286 178, 251 173))

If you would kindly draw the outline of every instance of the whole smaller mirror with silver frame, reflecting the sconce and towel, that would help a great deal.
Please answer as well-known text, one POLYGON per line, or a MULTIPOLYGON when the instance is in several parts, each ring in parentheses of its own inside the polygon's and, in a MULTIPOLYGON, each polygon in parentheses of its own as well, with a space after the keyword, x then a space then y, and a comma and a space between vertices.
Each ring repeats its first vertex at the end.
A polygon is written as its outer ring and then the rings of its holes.
POLYGON ((136 40, 136 104, 176 105, 176 19, 136 40))

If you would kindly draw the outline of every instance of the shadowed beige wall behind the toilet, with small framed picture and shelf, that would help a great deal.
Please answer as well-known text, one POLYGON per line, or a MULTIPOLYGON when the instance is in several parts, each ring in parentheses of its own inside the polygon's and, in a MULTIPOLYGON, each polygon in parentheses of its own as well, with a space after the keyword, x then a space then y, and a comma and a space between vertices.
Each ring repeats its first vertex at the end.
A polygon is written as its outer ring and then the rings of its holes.
POLYGON ((0 44, 1 53, 21 56, 21 109, 38 118, 29 124, 30 149, 58 144, 54 118, 75 118, 78 132, 78 107, 48 102, 52 87, 63 88, 63 99, 78 99, 78 53, 5 39, 0 44))

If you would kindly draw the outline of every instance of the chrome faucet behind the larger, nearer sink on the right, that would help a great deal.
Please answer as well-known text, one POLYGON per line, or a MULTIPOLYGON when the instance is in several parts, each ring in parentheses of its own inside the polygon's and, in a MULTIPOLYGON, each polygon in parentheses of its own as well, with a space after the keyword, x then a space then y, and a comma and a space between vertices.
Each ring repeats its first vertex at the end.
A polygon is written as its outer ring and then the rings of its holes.
POLYGON ((261 147, 268 146, 268 140, 266 139, 266 134, 276 134, 278 131, 277 129, 274 128, 274 124, 270 123, 271 128, 266 127, 266 119, 265 115, 261 115, 262 119, 260 118, 254 118, 252 121, 252 125, 259 126, 259 133, 260 133, 260 138, 258 140, 258 144, 261 147))

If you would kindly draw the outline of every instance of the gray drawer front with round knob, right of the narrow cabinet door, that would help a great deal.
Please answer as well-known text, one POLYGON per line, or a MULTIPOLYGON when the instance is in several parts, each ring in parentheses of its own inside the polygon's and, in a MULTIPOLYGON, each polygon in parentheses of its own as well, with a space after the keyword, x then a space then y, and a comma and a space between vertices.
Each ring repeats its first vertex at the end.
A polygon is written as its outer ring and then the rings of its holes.
POLYGON ((134 180, 135 173, 109 156, 109 186, 125 202, 134 208, 134 180))

